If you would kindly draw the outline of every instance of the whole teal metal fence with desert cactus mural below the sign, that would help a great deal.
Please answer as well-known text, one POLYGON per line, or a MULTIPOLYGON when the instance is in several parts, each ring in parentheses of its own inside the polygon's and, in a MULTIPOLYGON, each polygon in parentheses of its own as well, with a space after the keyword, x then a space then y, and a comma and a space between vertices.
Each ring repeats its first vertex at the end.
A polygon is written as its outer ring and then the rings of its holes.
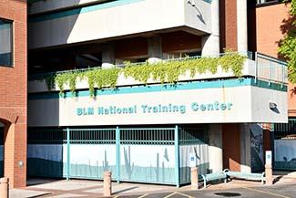
MULTIPOLYGON (((202 129, 203 131, 204 129, 202 129)), ((198 132, 197 132, 198 133, 198 132)), ((200 134, 199 134, 200 135, 200 134)), ((209 168, 208 145, 174 128, 29 129, 29 176, 175 184, 189 182, 189 152, 209 168)))

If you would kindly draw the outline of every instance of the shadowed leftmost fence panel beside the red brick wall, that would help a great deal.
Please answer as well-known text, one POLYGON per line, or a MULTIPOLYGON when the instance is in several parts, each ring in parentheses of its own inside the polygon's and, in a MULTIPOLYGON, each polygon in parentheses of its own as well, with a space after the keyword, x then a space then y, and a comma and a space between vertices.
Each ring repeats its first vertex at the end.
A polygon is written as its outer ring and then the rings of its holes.
POLYGON ((28 132, 28 176, 66 177, 65 156, 65 130, 30 130, 28 132))

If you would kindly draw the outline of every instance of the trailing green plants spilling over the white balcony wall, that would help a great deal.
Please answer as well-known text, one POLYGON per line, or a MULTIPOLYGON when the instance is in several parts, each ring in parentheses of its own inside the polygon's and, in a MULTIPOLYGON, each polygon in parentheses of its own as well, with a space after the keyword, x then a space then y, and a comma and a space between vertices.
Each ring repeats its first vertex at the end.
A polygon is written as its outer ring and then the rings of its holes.
POLYGON ((94 97, 96 88, 116 88, 117 78, 121 74, 125 78, 134 78, 144 84, 148 84, 149 79, 160 83, 173 84, 178 82, 179 77, 186 74, 186 72, 189 72, 190 77, 194 78, 196 75, 206 72, 215 74, 220 66, 224 71, 232 71, 236 77, 241 77, 245 59, 245 56, 228 51, 223 57, 186 57, 177 60, 159 61, 154 64, 145 62, 140 65, 125 62, 125 68, 93 68, 80 72, 58 73, 54 77, 48 77, 46 84, 52 86, 54 80, 61 94, 64 93, 66 85, 69 86, 72 94, 75 94, 78 78, 87 79, 90 96, 94 97))

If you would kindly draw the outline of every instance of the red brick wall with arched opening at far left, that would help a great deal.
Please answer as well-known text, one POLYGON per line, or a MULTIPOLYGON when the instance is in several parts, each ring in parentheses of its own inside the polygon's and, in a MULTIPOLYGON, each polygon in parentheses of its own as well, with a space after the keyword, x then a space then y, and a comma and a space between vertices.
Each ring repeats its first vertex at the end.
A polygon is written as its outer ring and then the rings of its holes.
POLYGON ((1 0, 0 18, 14 21, 14 68, 0 66, 0 120, 5 122, 5 176, 26 186, 26 0, 1 0), (18 162, 24 166, 19 167, 18 162))

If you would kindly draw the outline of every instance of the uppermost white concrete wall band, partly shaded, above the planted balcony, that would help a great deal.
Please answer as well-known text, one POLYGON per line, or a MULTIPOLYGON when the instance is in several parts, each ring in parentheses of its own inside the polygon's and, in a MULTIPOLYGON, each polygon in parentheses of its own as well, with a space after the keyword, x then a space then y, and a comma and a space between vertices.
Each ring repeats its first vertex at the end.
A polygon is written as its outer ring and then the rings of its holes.
POLYGON ((210 4, 205 1, 197 1, 196 7, 179 0, 120 0, 89 5, 30 18, 29 48, 128 36, 182 26, 192 28, 196 34, 209 34, 210 15, 210 4))

